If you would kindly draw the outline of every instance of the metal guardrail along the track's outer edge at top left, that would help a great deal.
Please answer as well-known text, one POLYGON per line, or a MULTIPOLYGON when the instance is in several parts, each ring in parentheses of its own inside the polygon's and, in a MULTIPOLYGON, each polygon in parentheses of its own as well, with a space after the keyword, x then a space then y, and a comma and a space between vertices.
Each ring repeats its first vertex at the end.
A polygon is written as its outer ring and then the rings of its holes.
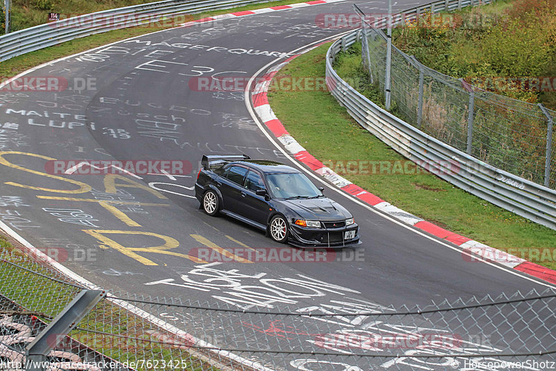
POLYGON ((0 61, 96 33, 140 26, 150 22, 160 22, 165 17, 183 13, 200 13, 205 10, 227 9, 267 1, 165 0, 62 19, 58 22, 40 24, 0 36, 0 61))

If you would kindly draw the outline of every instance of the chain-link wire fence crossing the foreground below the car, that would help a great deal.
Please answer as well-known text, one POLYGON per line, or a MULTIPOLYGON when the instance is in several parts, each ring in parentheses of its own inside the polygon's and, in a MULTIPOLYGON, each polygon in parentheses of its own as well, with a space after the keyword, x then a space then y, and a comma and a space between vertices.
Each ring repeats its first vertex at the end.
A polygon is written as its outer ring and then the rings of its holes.
MULTIPOLYGON (((82 288, 0 252, 0 370, 21 370, 26 346, 82 288)), ((345 298, 274 311, 113 290, 67 336, 48 339, 48 370, 541 371, 556 359, 555 308, 550 289, 426 308, 345 298)))

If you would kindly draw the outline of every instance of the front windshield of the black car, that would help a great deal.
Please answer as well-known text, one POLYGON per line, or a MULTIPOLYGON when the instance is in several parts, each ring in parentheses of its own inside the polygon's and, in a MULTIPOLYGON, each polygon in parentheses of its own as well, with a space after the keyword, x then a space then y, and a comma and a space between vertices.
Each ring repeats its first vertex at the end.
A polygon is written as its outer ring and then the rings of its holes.
POLYGON ((316 198, 322 192, 299 172, 267 174, 266 180, 272 196, 284 199, 316 198))

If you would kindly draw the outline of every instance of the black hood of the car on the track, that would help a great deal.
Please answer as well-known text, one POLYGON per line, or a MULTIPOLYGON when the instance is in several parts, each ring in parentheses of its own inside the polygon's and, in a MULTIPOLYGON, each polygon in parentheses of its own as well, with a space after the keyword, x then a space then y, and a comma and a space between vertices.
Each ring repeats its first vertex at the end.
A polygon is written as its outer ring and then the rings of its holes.
POLYGON ((281 201, 291 211, 300 215, 301 219, 336 221, 352 217, 349 211, 332 199, 285 199, 281 201))

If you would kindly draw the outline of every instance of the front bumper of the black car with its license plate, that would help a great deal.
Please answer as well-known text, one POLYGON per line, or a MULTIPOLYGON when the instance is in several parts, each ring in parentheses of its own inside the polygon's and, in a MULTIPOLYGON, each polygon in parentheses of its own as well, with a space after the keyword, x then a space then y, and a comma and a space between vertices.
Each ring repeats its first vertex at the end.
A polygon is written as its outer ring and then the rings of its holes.
POLYGON ((359 243, 359 226, 352 224, 342 228, 306 228, 290 224, 291 245, 296 247, 345 247, 359 243), (345 239, 345 232, 355 231, 353 238, 345 239))

